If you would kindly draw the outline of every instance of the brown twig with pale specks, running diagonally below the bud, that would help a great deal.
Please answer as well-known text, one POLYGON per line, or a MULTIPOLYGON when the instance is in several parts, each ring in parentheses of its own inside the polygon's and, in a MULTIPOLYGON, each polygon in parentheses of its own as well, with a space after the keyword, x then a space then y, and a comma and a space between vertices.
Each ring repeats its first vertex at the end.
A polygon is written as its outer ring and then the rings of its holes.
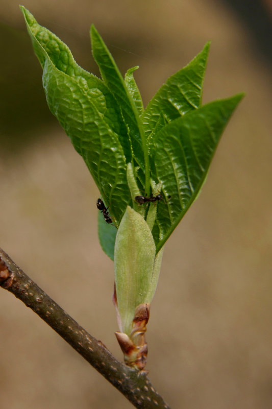
POLYGON ((38 287, 0 248, 0 286, 10 291, 51 326, 89 364, 139 409, 170 409, 155 391, 145 371, 119 362, 38 287))

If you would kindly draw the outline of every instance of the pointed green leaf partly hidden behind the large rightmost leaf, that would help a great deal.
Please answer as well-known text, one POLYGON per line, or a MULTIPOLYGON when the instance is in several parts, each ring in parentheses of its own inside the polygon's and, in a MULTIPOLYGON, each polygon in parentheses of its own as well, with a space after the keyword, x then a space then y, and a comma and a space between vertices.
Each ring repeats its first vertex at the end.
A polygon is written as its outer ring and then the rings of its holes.
POLYGON ((210 42, 188 65, 168 78, 144 110, 141 120, 151 148, 160 128, 200 107, 209 48, 210 42))

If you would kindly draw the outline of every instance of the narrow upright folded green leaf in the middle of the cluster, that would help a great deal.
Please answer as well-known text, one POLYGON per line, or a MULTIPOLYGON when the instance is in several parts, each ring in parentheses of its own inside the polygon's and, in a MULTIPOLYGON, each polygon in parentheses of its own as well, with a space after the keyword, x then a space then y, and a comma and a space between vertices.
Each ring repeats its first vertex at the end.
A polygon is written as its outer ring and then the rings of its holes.
POLYGON ((130 136, 127 143, 131 143, 133 158, 136 165, 140 167, 141 172, 138 172, 138 176, 141 184, 146 191, 149 191, 149 156, 136 105, 106 44, 93 25, 91 26, 91 44, 93 57, 100 68, 101 76, 113 93, 127 124, 130 136))

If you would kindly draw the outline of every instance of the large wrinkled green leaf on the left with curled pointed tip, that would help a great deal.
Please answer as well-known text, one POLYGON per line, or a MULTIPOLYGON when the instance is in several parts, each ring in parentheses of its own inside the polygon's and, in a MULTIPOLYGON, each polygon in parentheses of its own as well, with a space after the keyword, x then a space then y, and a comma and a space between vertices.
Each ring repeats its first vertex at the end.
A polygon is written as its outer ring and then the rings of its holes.
POLYGON ((118 225, 131 198, 121 144, 128 134, 115 98, 100 79, 76 64, 58 37, 21 10, 43 67, 48 106, 84 158, 118 225))

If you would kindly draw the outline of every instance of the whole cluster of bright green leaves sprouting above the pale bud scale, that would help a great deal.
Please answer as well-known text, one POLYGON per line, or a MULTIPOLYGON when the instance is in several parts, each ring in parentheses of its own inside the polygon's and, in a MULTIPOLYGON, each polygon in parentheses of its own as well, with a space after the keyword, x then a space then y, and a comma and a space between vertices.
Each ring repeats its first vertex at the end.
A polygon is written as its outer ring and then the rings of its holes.
MULTIPOLYGON (((85 160, 114 224, 118 227, 126 212, 123 226, 126 223, 134 231, 133 223, 140 218, 143 230, 148 225, 152 229, 159 252, 199 195, 220 135, 242 95, 201 107, 207 43, 166 81, 143 111, 133 76, 137 67, 129 69, 124 80, 94 26, 92 51, 102 80, 81 68, 66 44, 41 27, 28 10, 22 6, 21 10, 43 68, 48 106, 85 160), (151 193, 155 197, 148 198, 151 193), (164 200, 157 200, 159 193, 164 200), (135 201, 139 195, 147 195, 142 205, 135 201)), ((113 259, 116 229, 101 213, 98 229, 101 245, 113 259)), ((134 244, 143 251, 140 234, 135 234, 134 244)), ((147 235, 153 246, 150 230, 147 235)), ((120 242, 122 236, 125 233, 120 233, 120 242)), ((128 250, 128 244, 123 245, 128 250)))

